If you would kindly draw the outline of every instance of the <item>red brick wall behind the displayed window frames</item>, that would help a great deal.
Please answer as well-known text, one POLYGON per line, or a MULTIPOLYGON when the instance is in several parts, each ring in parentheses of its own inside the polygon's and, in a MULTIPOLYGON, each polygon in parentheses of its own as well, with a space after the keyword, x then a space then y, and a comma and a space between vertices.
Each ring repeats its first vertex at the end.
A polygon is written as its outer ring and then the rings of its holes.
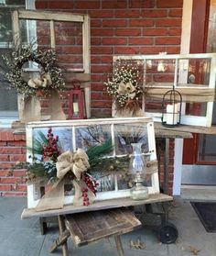
MULTIPOLYGON (((103 81, 112 70, 113 54, 179 53, 183 0, 36 0, 38 10, 87 13, 91 17, 92 117, 110 117, 111 99, 103 81)), ((170 147, 169 193, 173 182, 170 147)), ((25 195, 24 171, 10 173, 25 160, 25 136, 0 132, 0 195, 25 195)), ((163 159, 162 159, 163 161, 163 159)), ((161 176, 163 181, 163 175, 161 176)))

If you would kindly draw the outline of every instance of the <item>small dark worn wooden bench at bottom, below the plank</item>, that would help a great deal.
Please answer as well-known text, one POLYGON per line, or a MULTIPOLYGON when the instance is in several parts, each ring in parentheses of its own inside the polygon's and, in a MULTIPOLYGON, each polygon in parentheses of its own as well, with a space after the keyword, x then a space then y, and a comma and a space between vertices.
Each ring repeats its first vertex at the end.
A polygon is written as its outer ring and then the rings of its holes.
POLYGON ((120 235, 141 226, 134 214, 124 207, 59 216, 59 238, 51 246, 50 252, 62 246, 63 256, 67 256, 69 237, 76 246, 82 246, 113 236, 118 255, 124 256, 120 235))

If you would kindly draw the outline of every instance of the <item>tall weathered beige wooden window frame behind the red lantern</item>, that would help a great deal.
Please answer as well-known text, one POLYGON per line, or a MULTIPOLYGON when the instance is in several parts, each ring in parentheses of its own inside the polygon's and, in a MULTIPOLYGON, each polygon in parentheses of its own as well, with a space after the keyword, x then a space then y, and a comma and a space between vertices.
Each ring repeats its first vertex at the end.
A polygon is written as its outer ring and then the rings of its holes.
MULTIPOLYGON (((12 14, 13 17, 13 31, 16 41, 20 40, 19 20, 45 20, 49 21, 50 30, 50 47, 55 49, 55 22, 77 22, 82 26, 82 69, 70 69, 72 79, 79 79, 84 83, 85 90, 85 103, 87 117, 91 117, 91 88, 90 88, 90 69, 91 69, 91 56, 90 56, 90 17, 86 14, 71 14, 67 12, 49 12, 49 11, 28 11, 28 10, 16 10, 12 14)), ((67 75, 71 76, 70 74, 67 75)), ((67 79, 67 78, 66 78, 67 79)))

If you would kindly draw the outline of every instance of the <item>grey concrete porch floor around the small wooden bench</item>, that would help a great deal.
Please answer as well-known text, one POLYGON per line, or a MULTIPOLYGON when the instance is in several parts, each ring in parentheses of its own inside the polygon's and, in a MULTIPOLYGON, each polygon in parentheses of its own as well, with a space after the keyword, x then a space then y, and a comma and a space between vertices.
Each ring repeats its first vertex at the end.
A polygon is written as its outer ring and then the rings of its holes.
MULTIPOLYGON (((40 234, 38 218, 20 220, 27 198, 0 197, 0 256, 45 256, 61 255, 61 250, 49 253, 49 246, 58 237, 57 226, 52 224, 48 234, 40 234)), ((200 250, 197 255, 213 256, 216 251, 216 233, 207 233, 200 223, 188 200, 175 198, 170 207, 169 220, 178 228, 175 244, 161 244, 154 228, 143 227, 122 236, 125 256, 195 255, 192 250, 200 250), (129 247, 130 240, 140 239, 146 248, 135 250, 129 247)), ((113 239, 104 239, 81 248, 69 242, 71 255, 117 255, 113 239)))

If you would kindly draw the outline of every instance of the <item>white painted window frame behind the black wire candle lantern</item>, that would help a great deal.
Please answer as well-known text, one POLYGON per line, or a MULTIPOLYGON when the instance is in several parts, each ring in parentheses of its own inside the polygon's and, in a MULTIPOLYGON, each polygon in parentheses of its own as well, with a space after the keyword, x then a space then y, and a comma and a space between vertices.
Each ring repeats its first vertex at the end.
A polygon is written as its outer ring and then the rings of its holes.
MULTIPOLYGON (((190 59, 210 59, 211 60, 211 72, 210 72, 210 83, 208 88, 215 88, 215 81, 216 81, 216 53, 199 53, 199 54, 157 54, 157 55, 114 55, 113 56, 113 64, 115 61, 120 61, 120 60, 133 60, 133 61, 144 61, 144 68, 146 66, 146 61, 151 61, 151 60, 171 60, 175 61, 175 75, 174 75, 174 81, 172 85, 178 90, 180 88, 185 88, 178 86, 178 75, 181 81, 184 81, 187 83, 187 77, 188 77, 188 72, 182 72, 178 73, 178 60, 190 60, 190 59)), ((146 71, 144 70, 144 76, 145 76, 146 71)), ((167 90, 171 89, 172 86, 168 84, 170 83, 165 83, 164 86, 167 86, 167 90)), ((147 85, 145 83, 145 77, 144 77, 144 87, 151 87, 152 85, 147 85)), ((153 84, 154 85, 154 84, 153 84)), ((157 85, 157 88, 160 88, 160 86, 157 85)), ((189 87, 187 88, 194 88, 194 87, 189 87)), ((207 88, 205 86, 199 86, 196 87, 198 90, 202 90, 203 88, 207 88)), ((144 106, 145 109, 145 106, 144 106)), ((183 107, 184 109, 184 107, 183 107)), ((204 126, 204 127, 211 127, 211 118, 212 118, 212 111, 213 111, 213 102, 208 102, 207 103, 207 110, 206 110, 206 116, 205 117, 200 117, 200 116, 189 116, 189 115, 184 115, 182 114, 181 116, 181 124, 184 125, 194 125, 194 126, 204 126)), ((151 112, 145 112, 146 117, 153 117, 154 121, 156 122, 161 122, 161 113, 151 113, 151 112)))

